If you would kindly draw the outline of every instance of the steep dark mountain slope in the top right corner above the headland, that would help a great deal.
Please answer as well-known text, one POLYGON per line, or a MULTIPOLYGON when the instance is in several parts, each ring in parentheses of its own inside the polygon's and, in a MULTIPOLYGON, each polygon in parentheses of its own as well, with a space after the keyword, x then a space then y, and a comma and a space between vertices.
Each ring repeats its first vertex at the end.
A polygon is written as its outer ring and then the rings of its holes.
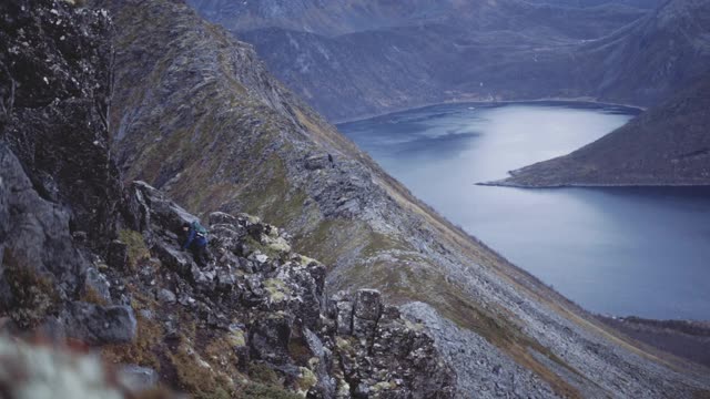
POLYGON ((710 70, 710 2, 672 0, 626 30, 588 43, 582 64, 597 96, 649 105, 710 70))

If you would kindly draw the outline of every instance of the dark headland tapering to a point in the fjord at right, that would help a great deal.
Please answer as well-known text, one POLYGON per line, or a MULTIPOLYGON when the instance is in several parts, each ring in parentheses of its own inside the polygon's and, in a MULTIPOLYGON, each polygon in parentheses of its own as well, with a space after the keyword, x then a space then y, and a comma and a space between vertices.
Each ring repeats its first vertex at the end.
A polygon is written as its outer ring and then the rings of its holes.
POLYGON ((710 184, 710 73, 598 141, 511 172, 516 186, 710 184))

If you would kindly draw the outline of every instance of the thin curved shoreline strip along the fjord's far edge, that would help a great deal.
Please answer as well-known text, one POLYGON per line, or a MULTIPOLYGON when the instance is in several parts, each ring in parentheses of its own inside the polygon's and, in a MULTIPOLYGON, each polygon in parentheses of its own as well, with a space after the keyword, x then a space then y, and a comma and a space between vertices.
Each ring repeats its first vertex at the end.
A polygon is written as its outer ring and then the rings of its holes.
POLYGON ((400 112, 424 110, 426 108, 436 106, 436 105, 516 104, 516 103, 542 103, 542 102, 586 103, 586 104, 596 104, 596 105, 623 106, 623 108, 628 108, 628 109, 638 110, 640 112, 645 112, 646 110, 648 110, 648 108, 641 106, 641 105, 606 102, 606 101, 601 101, 601 100, 595 99, 595 98, 544 98, 544 99, 529 99, 529 100, 519 99, 519 100, 497 100, 497 101, 496 100, 486 101, 486 100, 460 99, 460 100, 444 100, 444 101, 438 101, 438 102, 428 102, 428 103, 423 103, 423 104, 413 105, 413 106, 395 108, 395 109, 392 109, 389 111, 374 112, 374 113, 369 113, 369 114, 363 114, 363 115, 345 117, 345 119, 338 119, 338 120, 333 120, 333 121, 328 120, 328 123, 331 123, 332 125, 335 125, 337 127, 337 125, 339 125, 339 124, 362 122, 362 121, 367 121, 367 120, 372 120, 372 119, 375 119, 375 117, 386 116, 386 115, 400 113, 400 112))

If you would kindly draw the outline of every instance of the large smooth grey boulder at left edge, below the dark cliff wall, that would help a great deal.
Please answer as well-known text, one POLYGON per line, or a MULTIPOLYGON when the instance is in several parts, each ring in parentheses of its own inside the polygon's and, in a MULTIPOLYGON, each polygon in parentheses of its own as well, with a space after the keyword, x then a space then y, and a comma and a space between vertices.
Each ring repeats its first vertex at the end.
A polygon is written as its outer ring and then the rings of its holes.
POLYGON ((90 265, 74 247, 69 214, 40 197, 2 143, 0 178, 0 204, 8 216, 2 222, 6 236, 0 247, 0 313, 22 327, 37 327, 79 291, 90 265))

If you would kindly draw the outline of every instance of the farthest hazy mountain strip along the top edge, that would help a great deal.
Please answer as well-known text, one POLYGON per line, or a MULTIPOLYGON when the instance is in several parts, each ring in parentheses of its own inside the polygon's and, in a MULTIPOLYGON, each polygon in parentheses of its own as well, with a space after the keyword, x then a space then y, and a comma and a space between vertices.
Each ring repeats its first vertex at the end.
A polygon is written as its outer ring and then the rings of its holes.
MULTIPOLYGON (((643 2, 643 0, 639 1, 643 2)), ((646 2, 650 0, 646 0, 646 2)), ((592 22, 579 18, 580 12, 577 4, 564 7, 567 9, 564 11, 560 8, 560 11, 556 13, 549 12, 549 6, 545 1, 538 1, 540 4, 532 4, 521 0, 187 0, 187 2, 205 18, 233 31, 282 28, 326 37, 444 21, 465 22, 468 24, 467 28, 473 30, 501 29, 505 25, 517 30, 540 22, 545 23, 539 19, 555 19, 556 17, 565 17, 568 19, 566 22, 570 25, 574 23, 586 29, 590 23, 595 27, 605 27, 618 22, 618 17, 628 21, 629 16, 639 16, 638 11, 627 9, 619 11, 619 14, 611 20, 599 19, 592 22)), ((591 2, 595 2, 595 6, 604 3, 600 1, 591 2)), ((590 1, 587 0, 586 6, 589 4, 590 1)), ((610 1, 604 4, 604 8, 610 7, 613 7, 610 1)), ((616 8, 623 9, 622 7, 616 8)), ((562 20, 560 19, 559 22, 562 20)))

